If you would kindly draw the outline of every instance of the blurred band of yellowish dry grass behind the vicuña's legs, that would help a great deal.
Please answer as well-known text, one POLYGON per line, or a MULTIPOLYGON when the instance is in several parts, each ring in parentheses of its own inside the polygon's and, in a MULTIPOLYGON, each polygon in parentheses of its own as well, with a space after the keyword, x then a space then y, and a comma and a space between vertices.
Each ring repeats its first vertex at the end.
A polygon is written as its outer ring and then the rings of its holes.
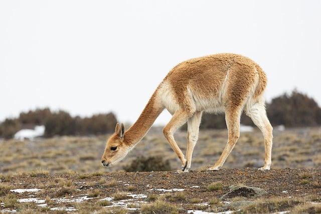
MULTIPOLYGON (((320 128, 287 129, 278 132, 274 136, 273 145, 273 167, 275 168, 305 168, 321 167, 321 140, 320 128), (314 149, 311 149, 314 148, 314 149), (311 163, 312 160, 312 163, 311 163)), ((105 146, 108 136, 93 137, 53 137, 30 141, 17 141, 14 139, 2 141, 0 150, 0 162, 3 164, 0 173, 30 171, 36 168, 47 169, 54 173, 68 173, 71 176, 89 178, 101 175, 106 171, 118 171, 123 166, 130 164, 132 158, 139 156, 141 152, 146 156, 163 155, 166 160, 171 160, 172 168, 180 168, 180 163, 174 161, 175 153, 167 143, 161 130, 153 128, 137 144, 128 156, 112 168, 102 168, 100 155, 105 146), (15 146, 12 146, 15 145, 15 146), (148 146, 146 146, 148 145, 148 146), (16 152, 19 150, 19 154, 16 152), (37 151, 35 153, 35 151, 37 151), (25 160, 25 161, 23 161, 25 160), (73 170, 70 170, 70 169, 73 170), (85 175, 84 175, 85 173, 85 175), (90 174, 89 174, 90 173, 90 174)), ((176 138, 181 148, 186 147, 186 132, 178 131, 176 138)), ((199 142, 193 153, 192 169, 205 171, 207 165, 213 164, 226 144, 226 130, 201 130, 199 142), (213 146, 213 143, 215 146, 213 146), (204 158, 206 155, 206 158, 204 158)), ((241 133, 239 142, 235 146, 235 153, 239 155, 229 156, 224 167, 243 168, 246 165, 260 167, 258 160, 264 158, 264 143, 259 130, 252 133, 241 133), (254 149, 255 148, 255 149, 254 149)), ((41 170, 40 170, 41 171, 41 170)), ((46 170, 45 174, 47 174, 46 170)), ((117 172, 119 173, 119 171, 117 172)), ((42 172, 37 170, 31 176, 41 176, 42 172)), ((165 173, 164 176, 167 176, 165 173)), ((0 175, 3 182, 10 181, 10 175, 0 175)), ((308 179, 302 178, 302 179, 308 179)))

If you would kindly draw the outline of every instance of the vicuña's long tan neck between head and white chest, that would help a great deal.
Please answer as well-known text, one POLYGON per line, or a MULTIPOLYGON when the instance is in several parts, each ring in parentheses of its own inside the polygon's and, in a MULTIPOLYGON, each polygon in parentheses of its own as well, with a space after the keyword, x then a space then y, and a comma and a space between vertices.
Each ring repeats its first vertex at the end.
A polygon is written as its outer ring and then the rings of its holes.
POLYGON ((137 121, 125 131, 123 142, 129 146, 136 145, 145 136, 158 115, 162 113, 164 107, 157 102, 156 93, 157 91, 151 96, 137 121))

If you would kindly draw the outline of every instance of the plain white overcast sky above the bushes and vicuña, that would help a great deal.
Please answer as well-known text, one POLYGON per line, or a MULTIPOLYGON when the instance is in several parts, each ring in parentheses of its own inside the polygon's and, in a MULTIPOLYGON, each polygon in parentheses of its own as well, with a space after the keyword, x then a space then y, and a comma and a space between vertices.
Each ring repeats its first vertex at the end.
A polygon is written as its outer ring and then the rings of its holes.
MULTIPOLYGON (((134 122, 183 60, 232 52, 321 103, 321 1, 1 1, 0 120, 36 107, 134 122)), ((156 121, 165 124, 170 114, 156 121)))

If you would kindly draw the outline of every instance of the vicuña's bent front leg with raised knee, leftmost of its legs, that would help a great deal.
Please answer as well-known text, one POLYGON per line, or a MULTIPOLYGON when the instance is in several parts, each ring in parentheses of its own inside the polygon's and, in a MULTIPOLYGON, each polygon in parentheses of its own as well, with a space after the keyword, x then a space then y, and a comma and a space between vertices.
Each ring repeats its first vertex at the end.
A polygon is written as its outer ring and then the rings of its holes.
POLYGON ((172 149, 175 151, 175 153, 177 154, 177 156, 181 160, 182 170, 178 170, 178 172, 183 172, 183 169, 185 169, 187 167, 187 161, 184 157, 182 150, 177 145, 173 134, 175 133, 175 131, 178 128, 180 128, 182 125, 184 125, 184 123, 186 123, 188 118, 189 118, 189 115, 187 112, 185 112, 183 110, 179 110, 179 111, 175 112, 171 121, 163 129, 164 136, 169 141, 172 149))

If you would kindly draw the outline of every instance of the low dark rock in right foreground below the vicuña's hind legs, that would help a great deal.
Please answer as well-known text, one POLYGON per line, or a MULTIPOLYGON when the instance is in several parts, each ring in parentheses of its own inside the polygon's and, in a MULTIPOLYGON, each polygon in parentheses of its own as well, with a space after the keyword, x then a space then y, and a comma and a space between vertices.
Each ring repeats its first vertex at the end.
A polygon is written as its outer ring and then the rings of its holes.
POLYGON ((236 196, 242 197, 256 197, 266 194, 267 192, 264 189, 250 186, 238 186, 232 185, 230 186, 231 191, 224 194, 221 199, 232 198, 236 196))

